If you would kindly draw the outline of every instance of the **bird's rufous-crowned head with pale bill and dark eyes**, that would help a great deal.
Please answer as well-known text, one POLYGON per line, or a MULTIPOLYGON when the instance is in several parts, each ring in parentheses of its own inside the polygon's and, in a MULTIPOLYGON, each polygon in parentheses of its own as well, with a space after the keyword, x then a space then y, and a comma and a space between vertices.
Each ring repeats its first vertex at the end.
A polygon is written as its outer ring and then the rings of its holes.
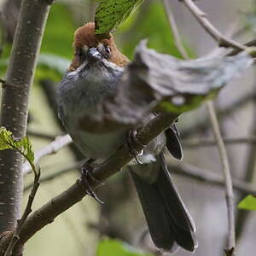
POLYGON ((109 61, 118 67, 124 67, 129 60, 125 55, 122 55, 116 44, 113 36, 101 39, 96 37, 95 24, 87 23, 79 27, 74 34, 74 57, 69 67, 69 71, 75 71, 84 61, 88 63, 96 63, 99 61, 109 61))

